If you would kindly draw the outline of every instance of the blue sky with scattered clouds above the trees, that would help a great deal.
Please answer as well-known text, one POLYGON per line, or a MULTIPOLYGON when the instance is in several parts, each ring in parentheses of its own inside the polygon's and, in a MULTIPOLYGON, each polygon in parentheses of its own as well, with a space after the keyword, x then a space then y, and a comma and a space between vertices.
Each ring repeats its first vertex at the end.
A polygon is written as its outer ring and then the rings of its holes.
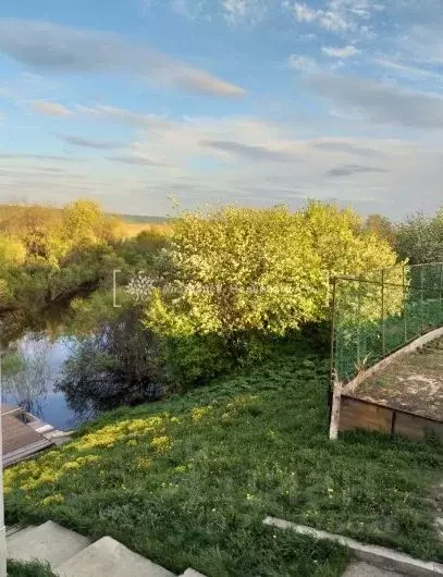
POLYGON ((0 202, 443 204, 442 0, 2 0, 0 202))

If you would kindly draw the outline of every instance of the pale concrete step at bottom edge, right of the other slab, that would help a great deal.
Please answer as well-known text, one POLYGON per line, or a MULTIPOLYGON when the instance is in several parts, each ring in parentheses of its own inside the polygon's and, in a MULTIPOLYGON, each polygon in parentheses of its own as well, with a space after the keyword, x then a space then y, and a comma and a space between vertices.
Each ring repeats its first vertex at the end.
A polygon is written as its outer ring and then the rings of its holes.
POLYGON ((62 564, 60 577, 175 577, 151 561, 133 553, 111 537, 103 537, 62 564))

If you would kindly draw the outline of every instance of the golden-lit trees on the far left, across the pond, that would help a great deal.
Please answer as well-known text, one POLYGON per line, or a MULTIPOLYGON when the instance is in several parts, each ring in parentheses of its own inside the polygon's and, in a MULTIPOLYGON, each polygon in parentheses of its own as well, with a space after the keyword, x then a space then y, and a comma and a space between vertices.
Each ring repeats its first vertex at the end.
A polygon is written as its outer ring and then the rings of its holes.
POLYGON ((109 290, 113 269, 145 266, 149 236, 122 237, 121 223, 90 200, 0 207, 1 343, 63 316, 75 296, 109 290))

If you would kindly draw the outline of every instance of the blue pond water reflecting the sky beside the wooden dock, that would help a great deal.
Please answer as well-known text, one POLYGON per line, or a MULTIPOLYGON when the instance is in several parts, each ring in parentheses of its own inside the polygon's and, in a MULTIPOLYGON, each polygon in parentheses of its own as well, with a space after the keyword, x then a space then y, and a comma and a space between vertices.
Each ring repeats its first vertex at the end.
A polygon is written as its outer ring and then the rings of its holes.
POLYGON ((66 403, 64 393, 54 391, 63 363, 70 357, 75 341, 28 334, 14 344, 24 369, 11 380, 3 376, 2 401, 25 406, 27 410, 56 429, 69 430, 86 420, 76 415, 66 403))

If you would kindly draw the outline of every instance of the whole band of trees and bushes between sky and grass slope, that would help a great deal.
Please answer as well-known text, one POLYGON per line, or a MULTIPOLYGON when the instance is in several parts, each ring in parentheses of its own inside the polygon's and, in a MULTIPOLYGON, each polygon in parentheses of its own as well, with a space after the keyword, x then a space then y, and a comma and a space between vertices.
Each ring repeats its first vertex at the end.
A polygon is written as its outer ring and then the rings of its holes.
POLYGON ((226 207, 133 238, 88 200, 23 219, 0 212, 2 334, 61 305, 78 346, 60 389, 78 409, 199 385, 318 331, 335 274, 443 260, 442 212, 393 224, 316 201, 296 212, 226 207))

